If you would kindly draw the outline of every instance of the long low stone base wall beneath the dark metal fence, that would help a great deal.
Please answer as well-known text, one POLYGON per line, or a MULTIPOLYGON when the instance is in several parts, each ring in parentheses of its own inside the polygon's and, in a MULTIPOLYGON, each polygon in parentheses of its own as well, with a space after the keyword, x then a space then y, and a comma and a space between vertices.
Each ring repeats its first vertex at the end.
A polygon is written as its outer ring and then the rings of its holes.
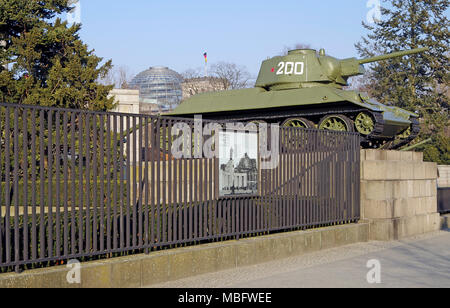
MULTIPOLYGON (((383 221, 383 220, 382 220, 383 221)), ((270 235, 241 241, 152 252, 102 261, 81 267, 81 285, 68 284, 65 266, 0 275, 0 288, 111 288, 140 287, 186 278, 209 271, 277 260, 321 248, 367 242, 368 223, 270 235), (266 259, 264 256, 269 256, 266 259)))

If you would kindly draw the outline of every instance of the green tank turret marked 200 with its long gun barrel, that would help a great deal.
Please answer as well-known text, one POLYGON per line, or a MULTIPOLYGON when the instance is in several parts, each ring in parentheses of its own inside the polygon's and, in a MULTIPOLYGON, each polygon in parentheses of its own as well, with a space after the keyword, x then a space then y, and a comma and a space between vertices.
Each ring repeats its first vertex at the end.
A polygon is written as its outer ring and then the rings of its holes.
POLYGON ((256 87, 285 90, 329 84, 342 88, 348 85, 348 78, 365 73, 364 64, 404 57, 426 50, 428 48, 418 48, 361 60, 356 58, 339 60, 327 56, 323 49, 318 53, 313 49, 292 50, 286 56, 274 57, 263 62, 256 87))

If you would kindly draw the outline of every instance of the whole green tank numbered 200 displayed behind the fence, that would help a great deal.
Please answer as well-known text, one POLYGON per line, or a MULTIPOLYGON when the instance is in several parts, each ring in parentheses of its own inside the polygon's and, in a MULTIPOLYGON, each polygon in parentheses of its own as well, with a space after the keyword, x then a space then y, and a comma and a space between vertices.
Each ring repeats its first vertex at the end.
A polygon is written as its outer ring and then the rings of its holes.
POLYGON ((426 50, 362 60, 340 60, 326 55, 323 49, 292 50, 264 61, 254 88, 199 94, 183 101, 169 115, 358 132, 364 148, 399 148, 420 132, 418 115, 345 87, 350 77, 365 73, 364 64, 426 50))

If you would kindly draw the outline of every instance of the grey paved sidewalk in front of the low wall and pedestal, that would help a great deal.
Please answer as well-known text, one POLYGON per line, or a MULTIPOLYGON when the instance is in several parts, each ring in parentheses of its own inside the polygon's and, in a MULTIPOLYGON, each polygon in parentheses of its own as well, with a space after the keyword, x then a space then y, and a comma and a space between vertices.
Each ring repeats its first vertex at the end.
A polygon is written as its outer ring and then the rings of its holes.
POLYGON ((152 287, 304 288, 450 287, 450 231, 400 242, 370 242, 205 274, 152 287), (381 263, 381 284, 367 282, 367 262, 381 263))

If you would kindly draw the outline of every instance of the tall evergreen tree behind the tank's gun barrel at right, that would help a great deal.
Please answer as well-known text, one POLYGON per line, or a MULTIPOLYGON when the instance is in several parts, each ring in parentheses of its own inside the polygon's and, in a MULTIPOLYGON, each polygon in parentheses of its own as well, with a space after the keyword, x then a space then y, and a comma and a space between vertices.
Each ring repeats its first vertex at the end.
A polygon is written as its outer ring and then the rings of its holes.
POLYGON ((450 163, 449 126, 449 20, 448 0, 383 0, 382 18, 363 23, 369 34, 356 44, 362 57, 402 49, 428 47, 429 51, 374 64, 364 88, 385 104, 419 112, 422 133, 433 137, 425 157, 450 163))

